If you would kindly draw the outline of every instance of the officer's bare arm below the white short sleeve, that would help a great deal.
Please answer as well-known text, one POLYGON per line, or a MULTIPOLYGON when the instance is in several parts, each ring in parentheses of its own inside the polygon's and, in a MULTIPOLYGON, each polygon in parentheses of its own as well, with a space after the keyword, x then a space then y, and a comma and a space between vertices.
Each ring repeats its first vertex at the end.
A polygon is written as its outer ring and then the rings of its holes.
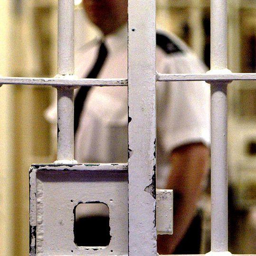
POLYGON ((173 189, 176 195, 174 232, 172 236, 158 236, 160 254, 173 253, 195 215, 202 180, 209 166, 209 150, 201 143, 183 146, 172 153, 171 165, 172 171, 166 189, 173 189))

